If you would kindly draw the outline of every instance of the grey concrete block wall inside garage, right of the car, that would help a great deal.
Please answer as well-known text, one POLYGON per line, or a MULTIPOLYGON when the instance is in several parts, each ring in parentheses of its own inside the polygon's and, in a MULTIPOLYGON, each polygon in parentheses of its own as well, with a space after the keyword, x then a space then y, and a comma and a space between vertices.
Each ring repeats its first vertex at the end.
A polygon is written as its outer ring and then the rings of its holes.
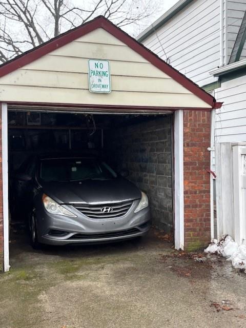
POLYGON ((108 162, 146 192, 153 226, 173 229, 171 115, 105 132, 108 162))

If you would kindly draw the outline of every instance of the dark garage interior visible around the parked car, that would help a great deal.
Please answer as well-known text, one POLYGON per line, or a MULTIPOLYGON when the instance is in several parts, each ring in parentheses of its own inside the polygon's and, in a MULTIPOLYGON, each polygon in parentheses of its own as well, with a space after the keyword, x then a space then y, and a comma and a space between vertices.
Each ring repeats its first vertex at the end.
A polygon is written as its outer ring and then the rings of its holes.
POLYGON ((17 182, 17 173, 30 172, 29 158, 44 153, 100 157, 148 195, 152 225, 172 233, 172 122, 171 114, 9 110, 10 239, 27 231, 23 209, 32 193, 29 181, 17 182))

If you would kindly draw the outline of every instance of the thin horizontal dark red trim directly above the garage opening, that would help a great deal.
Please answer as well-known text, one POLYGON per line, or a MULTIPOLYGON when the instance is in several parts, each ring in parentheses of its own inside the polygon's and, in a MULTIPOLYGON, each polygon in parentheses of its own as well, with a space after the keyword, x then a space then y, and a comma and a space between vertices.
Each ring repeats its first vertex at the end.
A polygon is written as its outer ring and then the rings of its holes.
MULTIPOLYGON (((6 101, 4 101, 6 103, 6 101)), ((199 111, 210 111, 210 108, 203 108, 203 107, 154 107, 154 106, 120 106, 120 105, 91 105, 91 104, 67 104, 67 103, 28 103, 26 101, 7 101, 8 105, 12 106, 32 106, 32 107, 54 107, 54 108, 78 108, 78 109, 93 109, 93 110, 124 110, 124 111, 172 111, 175 112, 176 110, 199 110, 199 111)), ((28 110, 28 108, 27 108, 28 110)))

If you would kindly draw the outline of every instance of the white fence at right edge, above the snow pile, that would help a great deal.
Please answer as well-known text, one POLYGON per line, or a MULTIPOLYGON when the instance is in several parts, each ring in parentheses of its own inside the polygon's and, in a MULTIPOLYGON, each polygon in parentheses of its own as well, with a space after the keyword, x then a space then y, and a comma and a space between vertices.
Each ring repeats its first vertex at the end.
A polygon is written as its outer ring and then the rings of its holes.
MULTIPOLYGON (((246 243, 246 144, 215 144, 217 239, 246 243)), ((214 236, 216 239, 216 236, 214 236)))

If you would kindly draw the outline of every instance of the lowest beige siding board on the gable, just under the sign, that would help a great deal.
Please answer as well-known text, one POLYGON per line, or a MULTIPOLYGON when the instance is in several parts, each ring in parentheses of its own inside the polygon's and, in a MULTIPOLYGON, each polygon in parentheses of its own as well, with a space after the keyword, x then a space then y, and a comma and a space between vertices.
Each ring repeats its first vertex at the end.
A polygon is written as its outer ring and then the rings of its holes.
MULTIPOLYGON (((111 92, 108 94, 90 93, 85 89, 62 89, 18 86, 2 86, 5 89, 5 97, 8 101, 16 101, 17 96, 20 101, 44 102, 44 103, 66 103, 66 104, 99 104, 115 106, 167 106, 167 107, 193 107, 193 94, 173 94, 173 93, 151 93, 151 92, 111 92)), ((209 105, 202 100, 196 101, 196 106, 209 108, 209 105)))

